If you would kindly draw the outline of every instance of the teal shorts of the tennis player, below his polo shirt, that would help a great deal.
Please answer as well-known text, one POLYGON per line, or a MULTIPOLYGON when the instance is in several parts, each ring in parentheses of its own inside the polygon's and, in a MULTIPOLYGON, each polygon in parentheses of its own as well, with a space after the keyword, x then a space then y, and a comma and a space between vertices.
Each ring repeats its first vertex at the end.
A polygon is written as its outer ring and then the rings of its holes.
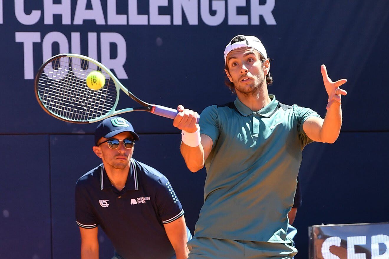
POLYGON ((192 238, 188 259, 292 259, 297 249, 291 244, 192 238))

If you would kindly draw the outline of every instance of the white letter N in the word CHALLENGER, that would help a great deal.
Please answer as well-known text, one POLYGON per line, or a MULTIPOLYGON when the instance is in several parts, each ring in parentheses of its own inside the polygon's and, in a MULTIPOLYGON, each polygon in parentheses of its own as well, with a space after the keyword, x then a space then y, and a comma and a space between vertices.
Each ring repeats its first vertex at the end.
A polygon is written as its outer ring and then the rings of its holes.
POLYGON ((182 25, 182 11, 190 25, 198 25, 197 0, 175 0, 173 1, 173 24, 182 25))

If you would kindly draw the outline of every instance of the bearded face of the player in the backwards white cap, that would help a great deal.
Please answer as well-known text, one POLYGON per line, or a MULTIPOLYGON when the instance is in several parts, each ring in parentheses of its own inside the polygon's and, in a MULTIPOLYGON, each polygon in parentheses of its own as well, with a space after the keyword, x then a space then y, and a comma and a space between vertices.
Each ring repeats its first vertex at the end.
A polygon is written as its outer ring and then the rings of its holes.
POLYGON ((261 86, 266 87, 265 76, 268 73, 268 61, 263 64, 260 53, 253 48, 234 49, 227 55, 226 70, 228 79, 234 84, 235 91, 245 95, 254 94, 261 86))

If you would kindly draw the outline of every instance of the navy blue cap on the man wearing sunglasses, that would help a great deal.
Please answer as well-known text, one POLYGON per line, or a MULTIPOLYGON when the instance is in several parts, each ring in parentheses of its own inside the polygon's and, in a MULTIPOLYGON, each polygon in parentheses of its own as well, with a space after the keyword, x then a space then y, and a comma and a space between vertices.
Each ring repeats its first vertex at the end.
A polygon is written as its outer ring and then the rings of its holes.
POLYGON ((125 131, 131 132, 134 140, 139 140, 138 134, 135 133, 131 123, 126 119, 119 116, 106 118, 100 122, 95 130, 95 145, 102 137, 110 138, 125 131))

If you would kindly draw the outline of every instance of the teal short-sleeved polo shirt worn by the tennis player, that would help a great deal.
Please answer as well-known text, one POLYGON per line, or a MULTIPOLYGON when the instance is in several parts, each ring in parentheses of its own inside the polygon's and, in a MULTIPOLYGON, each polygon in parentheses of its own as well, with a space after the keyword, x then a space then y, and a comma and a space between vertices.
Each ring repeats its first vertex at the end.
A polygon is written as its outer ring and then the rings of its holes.
POLYGON ((213 141, 205 161, 204 205, 194 237, 290 243, 301 151, 311 139, 303 123, 315 111, 271 102, 252 111, 238 98, 201 113, 200 133, 213 141))

